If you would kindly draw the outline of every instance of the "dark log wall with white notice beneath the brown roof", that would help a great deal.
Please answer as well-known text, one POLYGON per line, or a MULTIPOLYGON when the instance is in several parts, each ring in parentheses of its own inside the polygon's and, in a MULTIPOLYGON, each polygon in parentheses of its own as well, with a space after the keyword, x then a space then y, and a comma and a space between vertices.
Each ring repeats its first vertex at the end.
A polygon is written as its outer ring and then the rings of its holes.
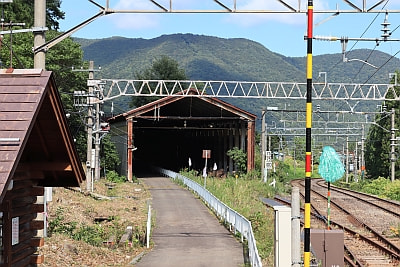
POLYGON ((44 242, 44 187, 24 177, 14 176, 0 206, 4 249, 0 266, 37 266, 44 260, 38 253, 44 242))

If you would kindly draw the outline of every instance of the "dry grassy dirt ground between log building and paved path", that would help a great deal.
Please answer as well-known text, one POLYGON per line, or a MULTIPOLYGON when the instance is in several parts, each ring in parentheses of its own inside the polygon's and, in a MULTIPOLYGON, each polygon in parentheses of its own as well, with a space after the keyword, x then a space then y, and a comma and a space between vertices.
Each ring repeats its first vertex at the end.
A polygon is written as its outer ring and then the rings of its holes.
POLYGON ((145 232, 150 194, 145 185, 100 180, 95 182, 93 193, 53 188, 53 199, 48 203, 49 236, 40 248, 45 258, 41 266, 134 266, 134 259, 148 250, 145 232), (84 227, 102 234, 79 235, 78 229, 84 227), (119 244, 127 227, 133 228, 132 240, 119 244), (100 244, 76 240, 85 238, 100 239, 100 244))

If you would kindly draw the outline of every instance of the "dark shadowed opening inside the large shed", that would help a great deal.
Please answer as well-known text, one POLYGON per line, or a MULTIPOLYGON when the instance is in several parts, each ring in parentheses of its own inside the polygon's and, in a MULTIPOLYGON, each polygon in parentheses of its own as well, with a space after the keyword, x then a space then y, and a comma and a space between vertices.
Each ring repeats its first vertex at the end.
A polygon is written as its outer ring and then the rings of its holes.
POLYGON ((211 158, 208 159, 207 165, 210 167, 215 163, 219 169, 224 169, 224 165, 226 168, 229 164, 229 159, 226 157, 229 140, 226 140, 224 145, 224 139, 229 138, 229 132, 233 132, 234 129, 233 125, 231 128, 229 125, 218 128, 134 127, 134 143, 138 149, 133 152, 133 165, 138 168, 140 163, 147 162, 179 171, 189 167, 190 158, 191 169, 200 171, 205 166, 205 159, 202 158, 203 150, 211 150, 211 158))

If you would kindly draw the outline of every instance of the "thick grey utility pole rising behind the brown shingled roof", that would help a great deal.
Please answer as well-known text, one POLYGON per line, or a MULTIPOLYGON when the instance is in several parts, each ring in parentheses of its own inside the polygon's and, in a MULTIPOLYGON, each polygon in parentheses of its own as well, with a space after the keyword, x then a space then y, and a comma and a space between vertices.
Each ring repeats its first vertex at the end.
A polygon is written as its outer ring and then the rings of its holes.
MULTIPOLYGON (((38 47, 46 42, 44 34, 44 27, 46 27, 46 0, 35 0, 34 27, 42 29, 34 32, 33 45, 38 47)), ((46 69, 46 54, 44 51, 35 53, 33 61, 35 69, 46 69)))

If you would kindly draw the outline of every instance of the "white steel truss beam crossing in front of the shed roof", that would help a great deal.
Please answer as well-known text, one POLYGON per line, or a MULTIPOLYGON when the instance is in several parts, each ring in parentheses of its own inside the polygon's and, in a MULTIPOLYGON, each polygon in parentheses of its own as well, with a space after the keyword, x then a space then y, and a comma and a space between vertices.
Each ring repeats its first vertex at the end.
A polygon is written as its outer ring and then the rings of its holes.
MULTIPOLYGON (((89 80, 100 101, 120 96, 198 96, 219 98, 305 99, 306 83, 177 80, 89 80), (195 95, 193 95, 195 93, 195 95)), ((394 84, 313 83, 315 100, 400 100, 394 84)))

